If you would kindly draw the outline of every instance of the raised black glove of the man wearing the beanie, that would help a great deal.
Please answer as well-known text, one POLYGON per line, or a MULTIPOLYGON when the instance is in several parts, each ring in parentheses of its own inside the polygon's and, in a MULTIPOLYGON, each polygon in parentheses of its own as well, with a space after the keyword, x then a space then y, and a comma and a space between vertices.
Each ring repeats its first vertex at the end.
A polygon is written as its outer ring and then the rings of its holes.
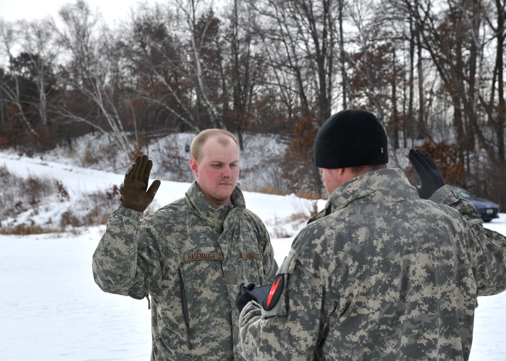
POLYGON ((421 186, 418 189, 420 198, 429 199, 438 189, 444 186, 444 179, 428 154, 411 149, 408 155, 416 173, 420 177, 421 186))

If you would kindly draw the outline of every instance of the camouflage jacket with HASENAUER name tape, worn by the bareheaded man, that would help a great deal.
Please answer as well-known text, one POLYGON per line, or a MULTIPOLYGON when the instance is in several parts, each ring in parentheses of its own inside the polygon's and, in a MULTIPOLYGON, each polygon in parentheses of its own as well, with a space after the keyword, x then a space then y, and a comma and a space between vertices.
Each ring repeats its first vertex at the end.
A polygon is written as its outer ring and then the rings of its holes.
POLYGON ((272 282, 277 264, 261 219, 234 205, 218 209, 194 182, 151 215, 120 206, 93 255, 105 292, 151 296, 152 360, 241 359, 235 299, 241 282, 272 282))

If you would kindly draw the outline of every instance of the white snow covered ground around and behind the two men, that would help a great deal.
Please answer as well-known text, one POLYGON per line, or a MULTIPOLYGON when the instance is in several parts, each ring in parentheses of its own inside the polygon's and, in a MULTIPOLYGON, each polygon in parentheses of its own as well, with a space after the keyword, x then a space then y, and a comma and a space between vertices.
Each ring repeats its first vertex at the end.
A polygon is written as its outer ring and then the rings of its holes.
MULTIPOLYGON (((0 152, 0 167, 22 176, 59 179, 71 198, 79 193, 120 185, 123 174, 80 168, 0 152)), ((188 184, 162 180, 158 204, 181 197, 188 184)), ((294 213, 312 203, 293 195, 245 192, 246 205, 266 223, 275 257, 281 264, 303 227, 294 213), (276 238, 287 235, 285 238, 276 238)), ((318 202, 321 209, 324 201, 318 202)), ((61 203, 48 204, 54 212, 61 203)), ((40 219, 44 214, 37 214, 40 219)), ((48 215, 46 215, 48 217, 48 215)), ((307 219, 307 217, 306 217, 307 219)), ((506 214, 485 223, 506 234, 506 214)), ((93 251, 104 226, 67 234, 0 235, 0 360, 146 361, 151 349, 150 311, 146 300, 102 292, 91 270, 93 251)), ((506 360, 506 292, 480 297, 476 311, 472 361, 506 360)))

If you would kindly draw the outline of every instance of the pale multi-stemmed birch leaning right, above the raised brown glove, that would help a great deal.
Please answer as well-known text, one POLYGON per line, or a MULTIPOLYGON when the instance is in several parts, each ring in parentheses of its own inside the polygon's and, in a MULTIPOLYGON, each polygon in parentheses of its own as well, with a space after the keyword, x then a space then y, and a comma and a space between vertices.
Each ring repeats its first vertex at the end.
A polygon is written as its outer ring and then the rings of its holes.
POLYGON ((69 57, 61 74, 62 81, 96 107, 95 117, 82 116, 72 110, 75 99, 66 99, 60 114, 73 121, 85 122, 101 132, 110 129, 116 144, 130 157, 137 145, 129 141, 118 109, 117 93, 122 71, 118 69, 121 61, 114 34, 105 25, 98 29, 100 17, 93 14, 82 0, 62 7, 59 16, 63 26, 58 26, 54 20, 51 25, 69 57), (103 119, 109 129, 102 125, 103 119))

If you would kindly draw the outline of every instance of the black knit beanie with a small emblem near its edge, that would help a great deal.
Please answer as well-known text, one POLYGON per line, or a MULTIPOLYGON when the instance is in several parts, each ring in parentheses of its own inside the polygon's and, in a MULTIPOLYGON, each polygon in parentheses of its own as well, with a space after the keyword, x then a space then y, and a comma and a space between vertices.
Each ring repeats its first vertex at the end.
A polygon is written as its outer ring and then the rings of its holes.
POLYGON ((371 112, 342 110, 328 118, 318 130, 314 153, 318 168, 387 164, 387 134, 371 112))

